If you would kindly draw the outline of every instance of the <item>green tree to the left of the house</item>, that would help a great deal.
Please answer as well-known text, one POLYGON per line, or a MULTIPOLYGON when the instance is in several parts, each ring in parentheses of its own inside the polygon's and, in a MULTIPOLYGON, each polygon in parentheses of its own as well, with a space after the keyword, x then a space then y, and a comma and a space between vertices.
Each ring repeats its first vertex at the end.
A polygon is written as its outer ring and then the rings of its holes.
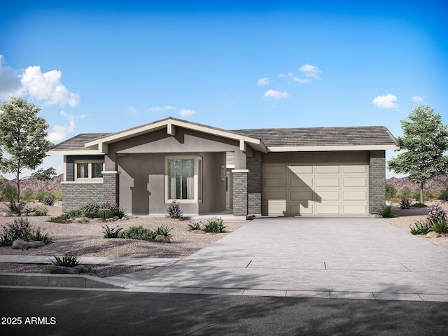
POLYGON ((20 179, 23 169, 35 170, 41 165, 45 152, 52 143, 47 137, 48 123, 38 117, 40 106, 27 102, 22 97, 13 97, 10 102, 0 105, 0 149, 8 153, 8 158, 1 158, 0 171, 3 174, 14 174, 17 186, 17 200, 20 201, 20 181, 33 179, 50 179, 55 175, 54 168, 39 169, 31 176, 20 179))

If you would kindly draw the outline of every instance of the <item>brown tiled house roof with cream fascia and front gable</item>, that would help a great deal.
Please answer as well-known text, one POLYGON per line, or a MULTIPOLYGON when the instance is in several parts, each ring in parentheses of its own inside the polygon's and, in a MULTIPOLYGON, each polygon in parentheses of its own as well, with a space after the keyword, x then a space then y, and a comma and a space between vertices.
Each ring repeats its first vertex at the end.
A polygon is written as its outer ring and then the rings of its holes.
POLYGON ((176 134, 176 127, 214 134, 239 141, 241 151, 246 144, 256 151, 374 151, 398 149, 398 141, 384 126, 362 127, 311 127, 311 128, 262 128, 248 130, 223 130, 176 118, 165 118, 115 133, 87 133, 67 139, 53 146, 49 155, 107 153, 109 144, 141 134, 166 129, 176 134))

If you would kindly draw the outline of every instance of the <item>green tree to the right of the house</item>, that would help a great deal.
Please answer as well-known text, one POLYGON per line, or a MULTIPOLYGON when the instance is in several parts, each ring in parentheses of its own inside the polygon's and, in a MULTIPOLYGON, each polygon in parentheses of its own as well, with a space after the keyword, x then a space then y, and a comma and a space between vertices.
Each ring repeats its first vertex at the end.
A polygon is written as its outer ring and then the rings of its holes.
POLYGON ((401 120, 402 137, 398 137, 404 151, 387 162, 389 171, 409 174, 409 180, 420 185, 420 202, 423 203, 423 186, 435 176, 447 174, 448 126, 442 116, 428 105, 421 105, 401 120))

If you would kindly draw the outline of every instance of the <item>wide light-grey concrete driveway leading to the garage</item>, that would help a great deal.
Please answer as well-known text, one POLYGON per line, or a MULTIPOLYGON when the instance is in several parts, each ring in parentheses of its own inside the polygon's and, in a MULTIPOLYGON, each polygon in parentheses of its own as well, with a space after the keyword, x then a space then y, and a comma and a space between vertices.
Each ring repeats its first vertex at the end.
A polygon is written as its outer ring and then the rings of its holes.
POLYGON ((127 288, 448 301, 448 250, 375 218, 258 218, 127 288))

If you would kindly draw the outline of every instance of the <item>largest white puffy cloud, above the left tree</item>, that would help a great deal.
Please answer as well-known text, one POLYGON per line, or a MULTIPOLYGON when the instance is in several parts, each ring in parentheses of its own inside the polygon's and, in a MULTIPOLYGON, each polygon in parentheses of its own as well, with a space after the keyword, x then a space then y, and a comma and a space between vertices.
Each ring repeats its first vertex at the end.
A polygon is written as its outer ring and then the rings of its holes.
POLYGON ((70 92, 61 83, 61 71, 52 70, 43 73, 41 66, 28 66, 22 74, 5 66, 0 55, 0 97, 10 99, 13 96, 25 96, 44 100, 46 105, 78 105, 79 95, 70 92))

